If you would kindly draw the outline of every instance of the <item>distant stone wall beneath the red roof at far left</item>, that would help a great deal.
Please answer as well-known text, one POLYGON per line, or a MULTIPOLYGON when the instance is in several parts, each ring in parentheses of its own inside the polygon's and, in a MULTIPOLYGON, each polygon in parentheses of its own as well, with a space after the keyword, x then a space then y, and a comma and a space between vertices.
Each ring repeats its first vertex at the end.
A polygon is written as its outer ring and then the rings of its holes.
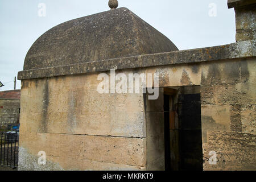
POLYGON ((19 100, 0 99, 0 127, 6 129, 7 124, 17 123, 19 117, 19 100))

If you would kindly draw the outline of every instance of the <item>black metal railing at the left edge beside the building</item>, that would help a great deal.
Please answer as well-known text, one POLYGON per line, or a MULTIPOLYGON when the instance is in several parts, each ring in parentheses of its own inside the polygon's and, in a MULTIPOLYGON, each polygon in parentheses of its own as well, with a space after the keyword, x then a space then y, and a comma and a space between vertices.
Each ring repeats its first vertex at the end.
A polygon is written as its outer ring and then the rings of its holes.
POLYGON ((19 133, 6 132, 0 139, 0 166, 18 167, 19 133))

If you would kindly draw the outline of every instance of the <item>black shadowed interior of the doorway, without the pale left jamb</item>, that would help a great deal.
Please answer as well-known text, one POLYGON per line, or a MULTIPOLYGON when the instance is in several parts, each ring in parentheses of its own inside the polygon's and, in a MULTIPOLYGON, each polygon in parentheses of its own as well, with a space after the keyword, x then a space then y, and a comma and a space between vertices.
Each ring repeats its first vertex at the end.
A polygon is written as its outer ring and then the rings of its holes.
POLYGON ((165 169, 203 170, 200 86, 164 88, 165 169))

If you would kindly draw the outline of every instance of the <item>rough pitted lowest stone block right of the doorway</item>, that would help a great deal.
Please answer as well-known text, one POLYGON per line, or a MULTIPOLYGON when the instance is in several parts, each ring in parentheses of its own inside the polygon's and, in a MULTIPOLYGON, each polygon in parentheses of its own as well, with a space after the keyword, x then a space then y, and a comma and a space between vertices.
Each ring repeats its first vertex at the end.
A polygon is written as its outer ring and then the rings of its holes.
POLYGON ((203 144, 204 170, 256 170, 256 135, 239 132, 208 132, 203 144), (209 164, 210 151, 217 154, 217 164, 209 164))

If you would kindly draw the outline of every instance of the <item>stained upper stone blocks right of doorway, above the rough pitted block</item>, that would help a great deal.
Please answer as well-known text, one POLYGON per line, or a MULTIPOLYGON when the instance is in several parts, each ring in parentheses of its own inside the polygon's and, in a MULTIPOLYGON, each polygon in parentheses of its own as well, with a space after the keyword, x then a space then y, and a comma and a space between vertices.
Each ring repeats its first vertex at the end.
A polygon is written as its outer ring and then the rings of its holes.
POLYGON ((254 59, 204 65, 201 78, 203 142, 207 142, 207 131, 243 131, 254 134, 252 121, 255 117, 250 110, 256 100, 255 86, 254 59), (211 126, 209 122, 214 123, 215 119, 212 118, 216 112, 214 109, 208 110, 209 114, 205 115, 205 105, 225 108, 224 113, 218 111, 217 114, 221 115, 218 120, 226 123, 226 126, 211 126))

